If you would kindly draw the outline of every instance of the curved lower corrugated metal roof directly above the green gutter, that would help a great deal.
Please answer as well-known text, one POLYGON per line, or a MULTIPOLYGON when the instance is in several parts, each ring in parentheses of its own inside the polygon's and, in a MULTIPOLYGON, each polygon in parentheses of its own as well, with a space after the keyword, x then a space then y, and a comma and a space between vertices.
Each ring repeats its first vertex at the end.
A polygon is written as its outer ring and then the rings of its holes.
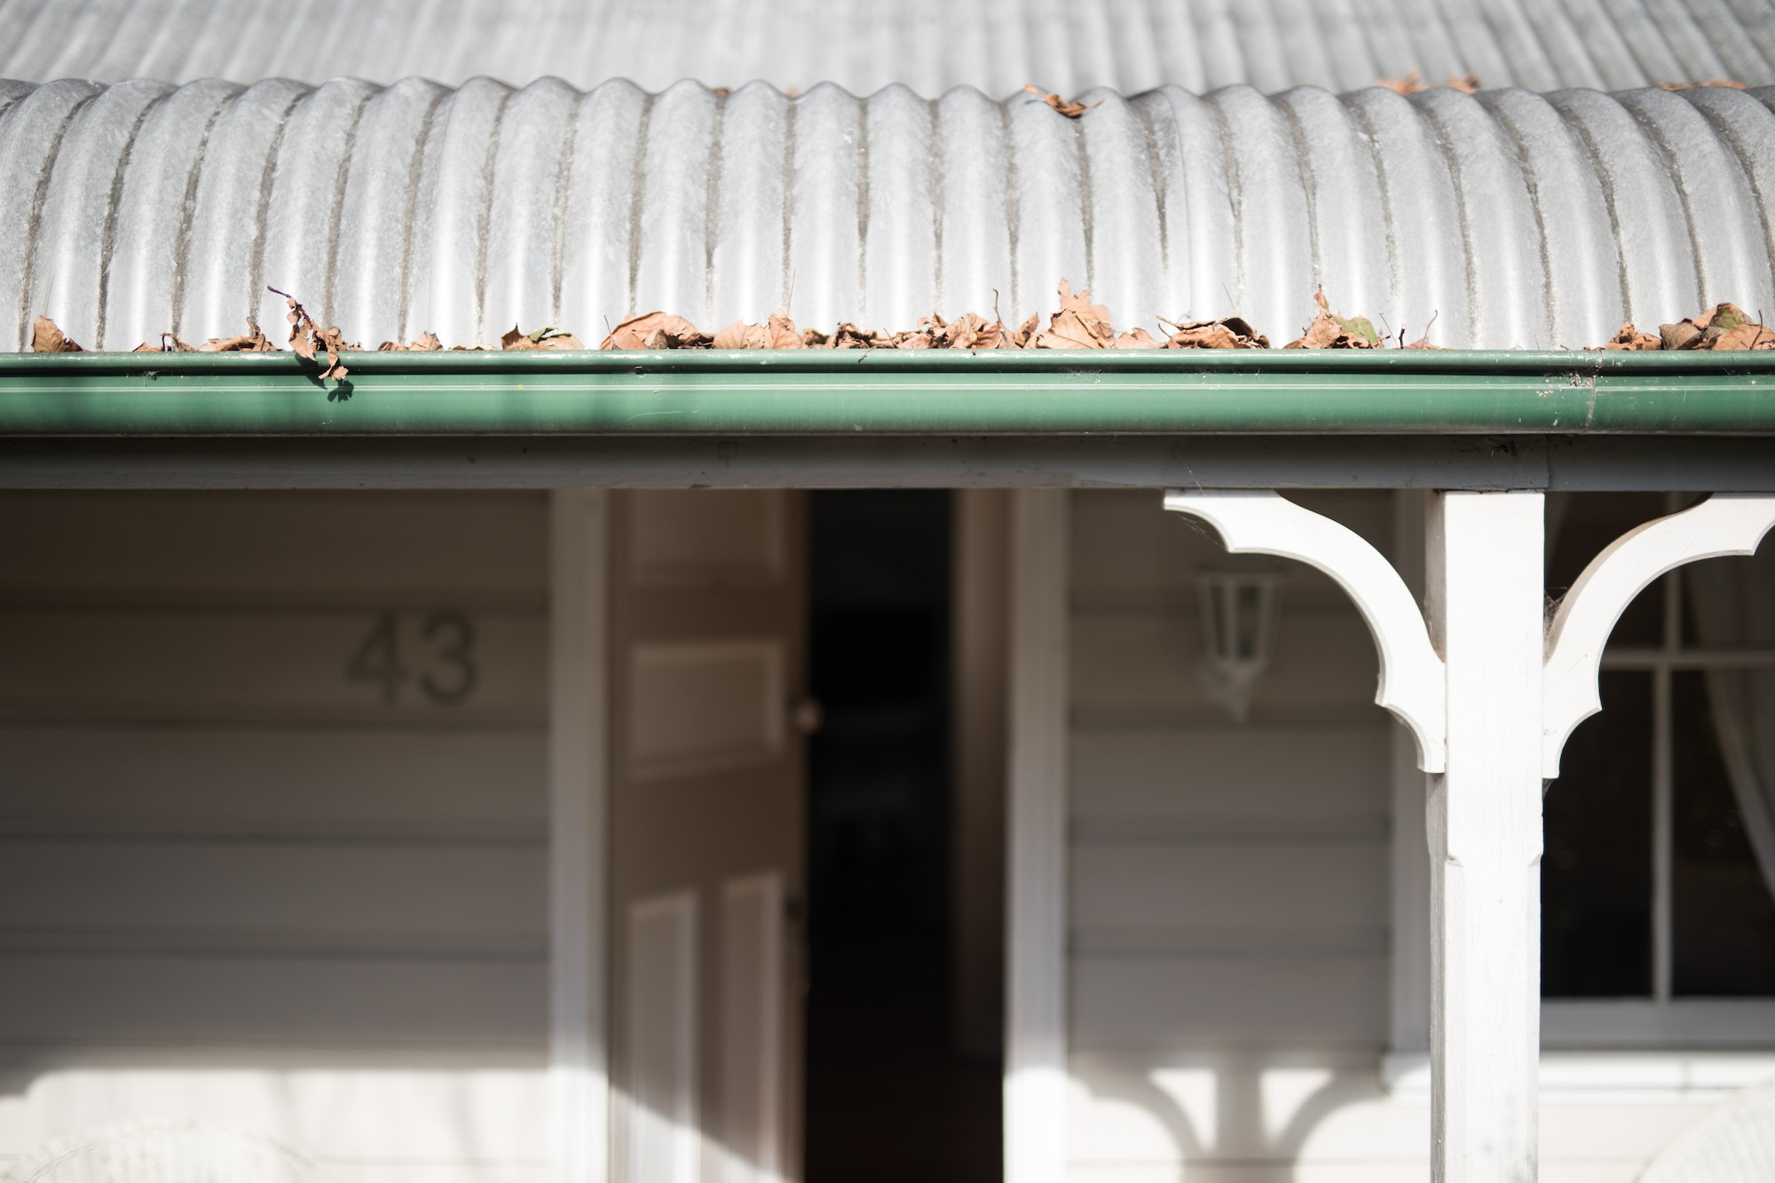
POLYGON ((272 329, 266 284, 369 345, 596 341, 648 309, 1014 320, 1061 277, 1118 325, 1241 313, 1285 337, 1324 284, 1479 348, 1775 313, 1775 91, 1085 98, 1065 119, 966 89, 14 83, 0 348, 37 311, 103 348, 272 329))

